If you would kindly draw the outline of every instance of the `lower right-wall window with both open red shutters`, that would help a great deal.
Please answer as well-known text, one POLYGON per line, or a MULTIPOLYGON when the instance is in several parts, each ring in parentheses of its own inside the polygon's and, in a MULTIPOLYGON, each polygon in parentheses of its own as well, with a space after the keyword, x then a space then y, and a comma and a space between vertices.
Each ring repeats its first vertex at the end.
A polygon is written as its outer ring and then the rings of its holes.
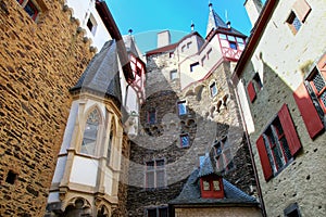
POLYGON ((266 181, 276 176, 299 152, 301 143, 286 104, 260 136, 256 148, 266 181))

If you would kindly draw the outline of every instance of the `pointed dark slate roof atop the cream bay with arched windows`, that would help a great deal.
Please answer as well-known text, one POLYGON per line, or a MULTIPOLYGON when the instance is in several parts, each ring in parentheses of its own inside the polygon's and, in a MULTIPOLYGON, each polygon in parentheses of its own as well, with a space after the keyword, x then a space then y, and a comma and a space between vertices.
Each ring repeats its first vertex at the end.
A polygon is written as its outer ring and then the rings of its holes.
POLYGON ((71 92, 85 90, 113 97, 118 103, 122 101, 117 47, 115 40, 109 40, 103 48, 97 53, 77 84, 71 88, 71 92))

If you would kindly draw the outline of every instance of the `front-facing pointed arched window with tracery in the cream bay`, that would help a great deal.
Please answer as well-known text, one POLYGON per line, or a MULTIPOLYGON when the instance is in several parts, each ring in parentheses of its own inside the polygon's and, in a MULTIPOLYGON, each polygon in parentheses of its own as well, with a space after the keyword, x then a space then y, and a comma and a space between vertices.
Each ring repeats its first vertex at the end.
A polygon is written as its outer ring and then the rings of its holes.
POLYGON ((100 125, 100 113, 95 108, 87 118, 80 153, 93 155, 96 150, 97 137, 100 125))

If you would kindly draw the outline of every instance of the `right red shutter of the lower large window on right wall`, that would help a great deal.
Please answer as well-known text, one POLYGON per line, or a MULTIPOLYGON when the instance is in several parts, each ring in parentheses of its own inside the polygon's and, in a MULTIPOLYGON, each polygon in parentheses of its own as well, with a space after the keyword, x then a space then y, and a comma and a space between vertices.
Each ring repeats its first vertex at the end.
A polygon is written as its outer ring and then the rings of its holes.
POLYGON ((286 104, 284 104, 278 112, 278 117, 288 141, 290 152, 292 156, 294 156, 296 153, 301 149, 301 142, 298 138, 291 115, 286 104))

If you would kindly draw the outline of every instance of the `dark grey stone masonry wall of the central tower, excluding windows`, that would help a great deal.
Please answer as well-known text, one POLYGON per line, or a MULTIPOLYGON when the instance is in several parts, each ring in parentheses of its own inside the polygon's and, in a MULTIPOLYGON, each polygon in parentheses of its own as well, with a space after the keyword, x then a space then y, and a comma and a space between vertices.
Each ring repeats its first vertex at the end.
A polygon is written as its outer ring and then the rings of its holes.
POLYGON ((170 72, 178 68, 176 61, 168 52, 148 56, 147 100, 140 110, 140 132, 130 146, 127 205, 130 216, 143 216, 146 208, 167 205, 199 166, 199 157, 209 153, 213 142, 225 136, 235 165, 225 177, 247 193, 253 193, 252 164, 229 82, 230 63, 223 62, 205 80, 180 90, 180 76, 170 78, 170 72), (210 92, 212 82, 217 86, 214 97, 210 92), (178 115, 178 101, 186 101, 186 115, 178 115), (221 105, 218 108, 217 104, 221 105), (154 124, 148 122, 151 108, 156 114, 154 124), (189 136, 189 146, 180 146, 180 135, 189 136), (152 159, 165 161, 164 188, 146 188, 146 162, 152 159))

